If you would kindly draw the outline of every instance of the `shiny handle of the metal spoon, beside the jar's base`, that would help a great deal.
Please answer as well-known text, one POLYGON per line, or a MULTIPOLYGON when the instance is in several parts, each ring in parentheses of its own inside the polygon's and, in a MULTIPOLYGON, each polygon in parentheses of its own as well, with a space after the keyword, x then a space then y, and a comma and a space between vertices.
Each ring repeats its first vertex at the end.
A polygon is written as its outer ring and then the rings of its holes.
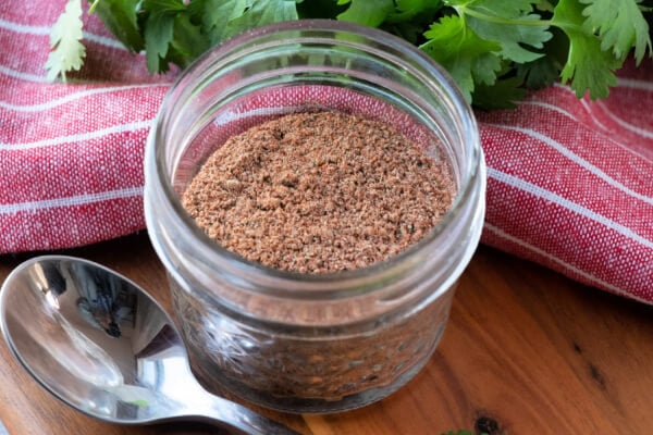
POLYGON ((301 435, 233 401, 207 393, 207 407, 188 410, 180 419, 192 418, 201 423, 214 424, 244 435, 301 435))

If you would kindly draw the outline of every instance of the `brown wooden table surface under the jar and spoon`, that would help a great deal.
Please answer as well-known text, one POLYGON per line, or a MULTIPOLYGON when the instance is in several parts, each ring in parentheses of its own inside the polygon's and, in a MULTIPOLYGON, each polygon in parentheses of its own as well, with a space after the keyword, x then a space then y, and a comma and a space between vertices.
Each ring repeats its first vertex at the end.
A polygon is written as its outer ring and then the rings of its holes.
MULTIPOLYGON (((146 234, 67 250, 118 270, 167 308, 146 234)), ((0 257, 0 281, 32 254, 0 257)), ((653 284, 653 283, 652 283, 653 284)), ((193 424, 136 427, 67 409, 0 345, 0 419, 10 434, 208 434, 193 424)), ((653 308, 481 247, 461 278, 444 338, 407 386, 334 415, 263 411, 304 434, 653 433, 653 308)))

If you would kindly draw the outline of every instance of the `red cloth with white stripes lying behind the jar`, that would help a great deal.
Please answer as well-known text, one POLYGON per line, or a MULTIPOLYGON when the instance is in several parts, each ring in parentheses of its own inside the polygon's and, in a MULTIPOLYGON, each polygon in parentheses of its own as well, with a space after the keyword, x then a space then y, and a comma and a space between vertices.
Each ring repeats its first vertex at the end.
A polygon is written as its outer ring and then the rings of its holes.
MULTIPOLYGON (((145 227, 143 151, 172 74, 150 77, 95 17, 79 80, 48 84, 64 0, 0 4, 0 253, 145 227)), ((653 303, 653 62, 611 97, 554 86, 478 113, 489 166, 483 243, 653 303)))

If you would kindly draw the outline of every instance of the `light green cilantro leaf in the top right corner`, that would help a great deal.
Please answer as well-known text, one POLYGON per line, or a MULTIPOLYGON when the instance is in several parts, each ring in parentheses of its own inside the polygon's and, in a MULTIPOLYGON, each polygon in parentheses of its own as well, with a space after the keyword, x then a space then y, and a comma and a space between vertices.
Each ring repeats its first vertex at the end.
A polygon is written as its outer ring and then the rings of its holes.
POLYGON ((638 3, 641 0, 580 0, 589 4, 582 15, 587 20, 582 24, 586 33, 597 32, 602 38, 601 49, 613 49, 617 59, 625 59, 634 46, 634 58, 639 64, 646 47, 651 51, 649 24, 642 15, 638 3))

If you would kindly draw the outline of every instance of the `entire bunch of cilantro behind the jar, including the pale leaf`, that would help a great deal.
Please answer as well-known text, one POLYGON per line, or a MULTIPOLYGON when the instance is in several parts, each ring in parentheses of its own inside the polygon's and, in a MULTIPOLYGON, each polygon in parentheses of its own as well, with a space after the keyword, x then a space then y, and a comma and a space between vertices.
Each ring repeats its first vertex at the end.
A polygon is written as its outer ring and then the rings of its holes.
MULTIPOLYGON (((84 60, 81 2, 69 0, 52 28, 48 77, 84 60)), ((653 54, 645 0, 89 0, 150 73, 182 69, 241 32, 298 18, 382 28, 442 64, 469 102, 504 109, 527 89, 569 83, 578 98, 606 98, 630 53, 653 54)))

